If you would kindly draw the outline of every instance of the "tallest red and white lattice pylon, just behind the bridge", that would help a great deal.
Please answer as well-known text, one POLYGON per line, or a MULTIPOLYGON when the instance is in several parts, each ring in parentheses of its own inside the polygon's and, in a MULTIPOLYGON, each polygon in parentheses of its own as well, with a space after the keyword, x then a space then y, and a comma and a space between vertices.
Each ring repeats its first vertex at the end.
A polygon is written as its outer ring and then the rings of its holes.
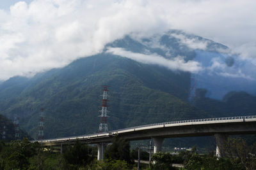
POLYGON ((103 87, 103 97, 102 97, 102 108, 100 110, 100 126, 99 132, 108 132, 108 122, 107 122, 107 113, 108 113, 108 86, 102 85, 103 87))

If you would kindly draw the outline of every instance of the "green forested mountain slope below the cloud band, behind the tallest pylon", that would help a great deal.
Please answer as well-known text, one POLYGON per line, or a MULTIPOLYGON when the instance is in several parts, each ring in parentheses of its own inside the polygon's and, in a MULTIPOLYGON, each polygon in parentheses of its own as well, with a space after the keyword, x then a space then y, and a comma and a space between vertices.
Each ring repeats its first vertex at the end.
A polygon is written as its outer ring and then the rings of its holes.
MULTIPOLYGON (((16 96, 0 99, 0 108, 8 117, 19 115, 21 126, 33 138, 40 108, 45 108, 45 138, 97 132, 101 85, 109 85, 110 90, 109 130, 209 117, 186 103, 189 80, 189 73, 101 53, 24 81, 19 87, 26 87, 16 96)), ((0 86, 0 92, 3 89, 0 86)))

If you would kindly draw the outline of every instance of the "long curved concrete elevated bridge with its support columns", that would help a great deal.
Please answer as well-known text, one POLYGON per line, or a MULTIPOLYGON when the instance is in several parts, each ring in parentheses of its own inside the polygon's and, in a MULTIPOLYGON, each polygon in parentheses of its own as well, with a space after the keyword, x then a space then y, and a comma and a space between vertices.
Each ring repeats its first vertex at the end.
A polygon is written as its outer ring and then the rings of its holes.
POLYGON ((95 143, 98 146, 98 160, 101 160, 103 158, 104 143, 111 143, 115 137, 129 141, 152 138, 154 141, 154 153, 157 153, 161 152, 164 138, 214 136, 216 138, 216 156, 223 157, 223 145, 228 135, 255 134, 255 132, 256 116, 221 117, 140 125, 97 134, 43 139, 37 142, 44 146, 61 147, 76 141, 95 143))

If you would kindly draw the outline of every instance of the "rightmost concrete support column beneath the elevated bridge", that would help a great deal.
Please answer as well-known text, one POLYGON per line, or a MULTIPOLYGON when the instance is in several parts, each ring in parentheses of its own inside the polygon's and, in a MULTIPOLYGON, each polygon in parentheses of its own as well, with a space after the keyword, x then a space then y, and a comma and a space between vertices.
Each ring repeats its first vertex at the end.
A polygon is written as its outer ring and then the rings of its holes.
POLYGON ((227 143, 227 134, 214 134, 214 137, 216 138, 216 156, 219 158, 225 157, 224 147, 227 143))

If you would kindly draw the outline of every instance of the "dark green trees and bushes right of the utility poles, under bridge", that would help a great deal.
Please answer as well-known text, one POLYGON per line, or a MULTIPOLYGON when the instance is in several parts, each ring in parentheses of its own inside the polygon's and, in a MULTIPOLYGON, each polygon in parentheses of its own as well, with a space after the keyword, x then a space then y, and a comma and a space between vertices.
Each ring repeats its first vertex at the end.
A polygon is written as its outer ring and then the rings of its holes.
POLYGON ((184 164, 184 169, 230 169, 241 170, 256 168, 256 143, 248 145, 244 139, 229 138, 224 146, 225 158, 217 158, 213 152, 200 154, 194 147, 191 151, 180 152, 179 155, 156 153, 152 160, 156 161, 152 169, 175 169, 172 164, 184 164))

